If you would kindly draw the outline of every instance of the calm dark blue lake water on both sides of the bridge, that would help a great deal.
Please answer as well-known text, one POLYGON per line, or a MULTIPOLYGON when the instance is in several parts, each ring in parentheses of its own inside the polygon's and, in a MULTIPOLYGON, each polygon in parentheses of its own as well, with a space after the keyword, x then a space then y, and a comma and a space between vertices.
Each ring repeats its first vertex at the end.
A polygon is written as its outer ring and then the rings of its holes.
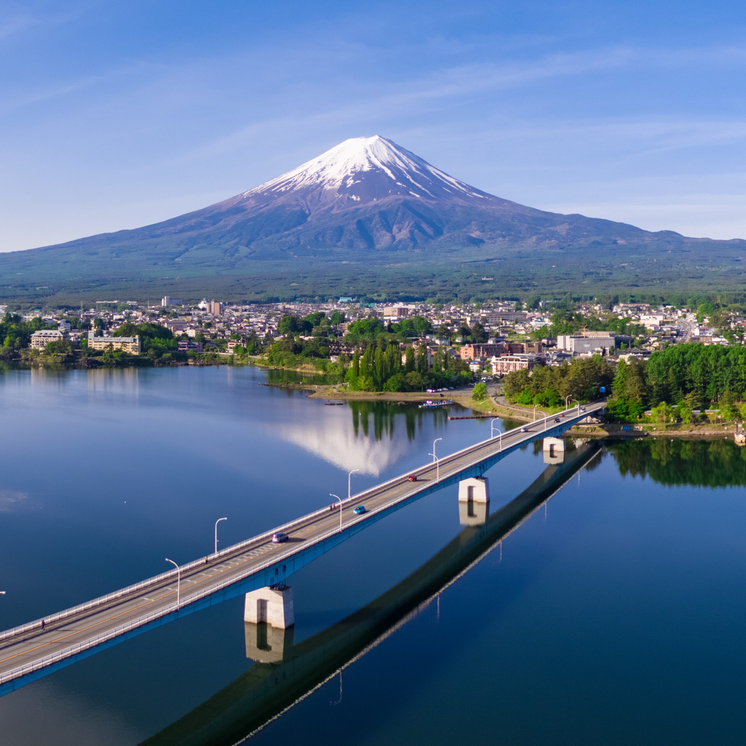
MULTIPOLYGON (((435 438, 446 454, 489 436, 267 375, 1 373, 0 628, 207 554, 224 515, 227 546, 329 504, 350 469, 359 491, 435 438)), ((492 513, 545 468, 535 448, 493 467, 492 513)), ((745 485, 731 442, 611 444, 468 569, 453 548, 474 530, 444 488, 290 578, 287 663, 247 658, 233 599, 0 698, 0 741, 235 743, 298 700, 251 742, 742 743, 745 485), (260 702, 257 681, 276 693, 260 702)))

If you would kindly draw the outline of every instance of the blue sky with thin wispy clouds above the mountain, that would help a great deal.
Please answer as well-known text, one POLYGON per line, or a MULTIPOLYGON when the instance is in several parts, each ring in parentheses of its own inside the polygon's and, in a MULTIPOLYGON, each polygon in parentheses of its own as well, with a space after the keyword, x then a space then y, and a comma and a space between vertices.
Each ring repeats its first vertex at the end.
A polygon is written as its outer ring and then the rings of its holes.
POLYGON ((371 134, 533 207, 746 237, 745 31, 718 0, 4 0, 0 251, 371 134))

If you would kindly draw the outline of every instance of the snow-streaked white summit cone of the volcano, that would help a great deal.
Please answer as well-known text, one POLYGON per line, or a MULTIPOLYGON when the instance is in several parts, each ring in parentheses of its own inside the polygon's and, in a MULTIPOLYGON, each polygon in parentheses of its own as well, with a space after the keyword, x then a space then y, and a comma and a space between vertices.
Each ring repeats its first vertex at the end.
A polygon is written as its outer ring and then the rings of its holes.
POLYGON ((428 201, 491 197, 380 135, 345 140, 297 169, 249 189, 241 197, 265 201, 299 192, 313 201, 342 205, 395 195, 428 201))

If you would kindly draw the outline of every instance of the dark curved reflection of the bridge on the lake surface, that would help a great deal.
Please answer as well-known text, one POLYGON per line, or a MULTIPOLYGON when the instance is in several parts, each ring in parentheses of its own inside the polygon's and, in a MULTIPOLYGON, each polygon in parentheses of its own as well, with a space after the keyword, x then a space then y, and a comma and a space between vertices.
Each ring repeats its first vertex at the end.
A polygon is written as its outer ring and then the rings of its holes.
POLYGON ((367 606, 293 644, 293 628, 245 623, 246 654, 257 661, 212 698, 142 742, 142 746, 232 745, 310 694, 404 624, 513 532, 601 447, 577 445, 550 464, 517 498, 469 525, 434 557, 367 606))

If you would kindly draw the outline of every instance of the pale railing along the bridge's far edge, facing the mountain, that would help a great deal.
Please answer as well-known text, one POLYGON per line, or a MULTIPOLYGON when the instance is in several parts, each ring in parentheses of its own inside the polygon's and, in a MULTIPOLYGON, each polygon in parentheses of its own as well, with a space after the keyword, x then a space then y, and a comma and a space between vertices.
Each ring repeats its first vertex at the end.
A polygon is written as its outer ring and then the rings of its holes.
MULTIPOLYGON (((572 409, 577 409, 577 415, 580 416, 580 404, 577 404, 577 407, 573 407, 572 409)), ((571 410, 565 410, 565 411, 571 411, 571 410)), ((552 415, 551 417, 555 417, 556 415, 552 415)), ((545 416, 543 419, 543 428, 542 430, 547 430, 547 420, 549 419, 549 415, 545 416)), ((569 418, 574 419, 574 418, 569 418)), ((533 424, 536 424, 536 421, 530 424, 530 427, 533 427, 533 424)), ((517 428, 513 428, 514 430, 517 428)), ((508 430, 510 433, 511 430, 508 430)), ((480 441, 478 443, 475 443, 474 445, 468 445, 466 448, 462 448, 460 451, 455 451, 452 454, 448 454, 448 456, 444 457, 441 461, 441 463, 451 463, 451 461, 456 460, 460 457, 465 456, 466 454, 470 453, 471 451, 477 451, 480 448, 484 448, 485 445, 489 444, 489 442, 492 442, 494 438, 490 437, 486 440, 480 441)), ((408 471, 407 474, 421 474, 424 471, 427 471, 428 469, 432 468, 432 463, 424 464, 423 466, 420 466, 413 471, 408 471)), ((392 479, 386 480, 385 482, 379 483, 369 489, 363 490, 363 492, 358 492, 356 495, 351 495, 349 498, 343 499, 341 502, 342 505, 350 504, 352 502, 360 501, 363 498, 369 497, 370 495, 373 495, 375 492, 380 492, 382 489, 386 489, 389 486, 392 486, 393 484, 401 481, 406 475, 405 474, 399 474, 397 477, 392 477, 392 479)), ((425 489, 425 486, 423 486, 422 489, 425 489)), ((297 526, 298 524, 304 523, 305 521, 309 521, 313 518, 316 518, 319 515, 324 515, 325 513, 328 513, 328 507, 320 508, 319 510, 315 510, 312 513, 307 513, 305 515, 302 515, 300 518, 295 518, 292 521, 288 521, 285 524, 282 524, 281 526, 275 527, 270 529, 269 531, 265 531, 264 533, 257 534, 256 536, 251 536, 249 539, 245 539, 242 542, 238 542, 237 544, 233 544, 230 547, 226 547, 225 549, 220 550, 217 553, 207 554, 205 557, 200 557, 198 560, 192 560, 191 562, 187 562, 185 565, 180 565, 179 569, 176 568, 172 570, 168 570, 166 572, 163 572, 159 575, 155 575, 154 577, 149 577, 146 580, 140 580, 139 583, 134 583, 131 586, 127 586, 125 588, 119 589, 117 591, 113 591, 111 593, 108 593, 104 596, 99 596, 98 598, 93 598, 91 601, 86 601, 84 604, 78 604, 78 606, 71 606, 69 609, 63 609, 60 612, 55 612, 54 614, 35 619, 34 621, 26 622, 25 624, 21 624, 18 627, 13 627, 10 630, 5 630, 4 632, 0 633, 0 641, 4 639, 8 639, 10 637, 29 632, 34 629, 40 629, 42 627, 42 623, 44 624, 51 624, 54 621, 62 621, 66 618, 69 618, 73 615, 79 614, 83 611, 88 611, 90 609, 95 609, 97 606, 102 606, 104 604, 109 603, 110 601, 116 601, 119 598, 122 598, 126 595, 131 595, 134 592, 140 591, 142 589, 148 588, 150 586, 153 586, 156 583, 160 583, 163 580, 170 580, 173 577, 177 577, 178 573, 185 570, 190 570, 192 568, 198 567, 200 565, 204 564, 205 558, 208 560, 210 559, 217 559, 219 557, 225 557, 228 554, 233 554, 234 552, 245 548, 246 546, 253 544, 255 542, 262 542, 264 539, 268 539, 272 536, 272 534, 278 532, 278 531, 285 531, 292 529, 292 527, 297 526)), ((275 564, 277 560, 271 562, 270 564, 275 564)), ((253 572, 253 571, 252 571, 253 572)), ((232 580, 231 583, 235 583, 236 580, 232 580)), ((214 592, 214 591, 213 591, 214 592)))

